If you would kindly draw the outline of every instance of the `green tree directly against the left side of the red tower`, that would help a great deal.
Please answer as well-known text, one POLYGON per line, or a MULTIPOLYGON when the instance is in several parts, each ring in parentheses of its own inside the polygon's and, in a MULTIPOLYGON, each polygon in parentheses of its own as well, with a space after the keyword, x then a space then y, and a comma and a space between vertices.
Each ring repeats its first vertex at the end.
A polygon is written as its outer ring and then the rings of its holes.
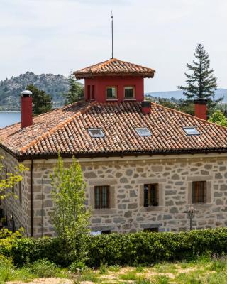
POLYGON ((81 84, 79 84, 73 74, 73 72, 70 72, 70 75, 68 76, 68 82, 69 82, 69 92, 65 94, 66 102, 65 104, 72 104, 74 102, 79 101, 80 99, 83 99, 84 97, 84 87, 82 87, 81 84))

